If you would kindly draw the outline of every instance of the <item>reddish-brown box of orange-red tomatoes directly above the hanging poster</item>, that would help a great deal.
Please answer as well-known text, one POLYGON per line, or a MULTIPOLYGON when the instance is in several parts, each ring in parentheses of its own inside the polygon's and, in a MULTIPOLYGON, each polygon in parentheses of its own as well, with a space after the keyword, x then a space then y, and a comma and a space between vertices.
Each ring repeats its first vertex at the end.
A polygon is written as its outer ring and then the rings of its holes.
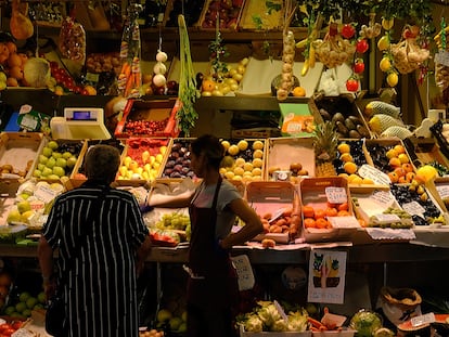
MULTIPOLYGON (((303 228, 303 236, 307 243, 349 241, 351 233, 360 228, 354 216, 350 191, 347 180, 341 177, 304 178, 299 183, 300 207, 311 206, 315 210, 328 209, 330 204, 347 203, 345 217, 326 217, 332 228, 303 228), (341 219, 338 219, 341 218, 341 219), (338 220, 345 220, 338 222, 338 220)), ((305 216, 303 212, 303 225, 305 216)))

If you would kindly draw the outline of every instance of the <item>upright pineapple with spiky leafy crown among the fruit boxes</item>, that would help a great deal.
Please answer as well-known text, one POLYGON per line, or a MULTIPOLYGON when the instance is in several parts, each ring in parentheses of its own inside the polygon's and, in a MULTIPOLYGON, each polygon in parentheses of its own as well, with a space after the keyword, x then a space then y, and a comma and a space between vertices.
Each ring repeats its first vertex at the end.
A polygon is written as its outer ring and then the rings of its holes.
POLYGON ((332 121, 328 120, 317 126, 313 135, 313 146, 317 167, 316 176, 336 176, 333 161, 337 154, 338 137, 332 121))

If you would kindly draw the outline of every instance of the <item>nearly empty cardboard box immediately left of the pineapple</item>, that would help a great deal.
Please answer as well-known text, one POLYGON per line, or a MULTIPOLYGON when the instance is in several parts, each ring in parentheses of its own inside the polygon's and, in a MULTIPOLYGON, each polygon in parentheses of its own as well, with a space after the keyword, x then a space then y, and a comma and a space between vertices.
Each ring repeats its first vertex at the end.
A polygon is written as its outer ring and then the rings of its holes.
POLYGON ((300 164, 302 170, 292 172, 291 181, 299 182, 302 176, 315 177, 315 147, 311 138, 270 138, 267 148, 267 169, 265 180, 274 180, 277 170, 291 171, 292 164, 300 164))

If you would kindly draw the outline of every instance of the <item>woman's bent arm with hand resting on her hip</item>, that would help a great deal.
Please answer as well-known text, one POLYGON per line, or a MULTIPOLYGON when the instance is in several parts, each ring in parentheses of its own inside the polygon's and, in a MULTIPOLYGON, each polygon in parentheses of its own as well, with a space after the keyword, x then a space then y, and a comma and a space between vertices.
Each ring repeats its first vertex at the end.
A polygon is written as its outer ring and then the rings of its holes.
POLYGON ((238 216, 245 223, 245 225, 243 225, 239 232, 232 233, 224 237, 220 244, 221 248, 230 249, 232 246, 242 245, 255 237, 257 234, 264 232, 264 225, 260 221, 260 217, 244 199, 234 199, 231 204, 229 204, 229 207, 235 216, 238 216))

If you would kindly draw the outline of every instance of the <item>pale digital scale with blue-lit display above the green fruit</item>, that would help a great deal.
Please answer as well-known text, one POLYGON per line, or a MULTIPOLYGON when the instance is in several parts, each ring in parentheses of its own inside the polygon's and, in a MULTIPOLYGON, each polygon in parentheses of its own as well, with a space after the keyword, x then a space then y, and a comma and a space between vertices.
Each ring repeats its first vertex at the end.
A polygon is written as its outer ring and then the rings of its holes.
POLYGON ((104 111, 101 107, 65 107, 64 117, 51 118, 50 128, 53 139, 111 139, 111 133, 104 126, 104 111))

